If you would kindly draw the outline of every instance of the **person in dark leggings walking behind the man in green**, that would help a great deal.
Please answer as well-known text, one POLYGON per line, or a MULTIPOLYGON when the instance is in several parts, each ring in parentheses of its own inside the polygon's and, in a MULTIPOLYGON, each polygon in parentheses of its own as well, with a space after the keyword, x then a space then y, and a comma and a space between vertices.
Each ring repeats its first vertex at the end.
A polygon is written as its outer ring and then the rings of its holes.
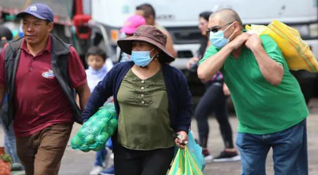
MULTIPOLYGON (((203 58, 206 48, 211 45, 208 40, 207 28, 209 17, 212 14, 210 11, 205 11, 199 15, 199 29, 201 34, 204 36, 201 47, 198 51, 198 57, 192 58, 187 68, 192 71, 197 70, 197 63, 203 58)), ((239 161, 239 154, 233 144, 232 127, 229 121, 228 115, 228 103, 227 98, 230 95, 228 87, 224 84, 223 75, 218 72, 213 78, 207 82, 203 82, 206 86, 206 91, 201 97, 199 103, 194 111, 194 116, 197 120, 198 131, 199 131, 199 143, 203 148, 202 154, 205 158, 206 163, 215 162, 228 162, 228 161, 239 161), (213 158, 208 150, 208 138, 209 138, 209 123, 208 118, 212 112, 215 112, 215 117, 219 123, 221 136, 224 142, 225 149, 213 158)))

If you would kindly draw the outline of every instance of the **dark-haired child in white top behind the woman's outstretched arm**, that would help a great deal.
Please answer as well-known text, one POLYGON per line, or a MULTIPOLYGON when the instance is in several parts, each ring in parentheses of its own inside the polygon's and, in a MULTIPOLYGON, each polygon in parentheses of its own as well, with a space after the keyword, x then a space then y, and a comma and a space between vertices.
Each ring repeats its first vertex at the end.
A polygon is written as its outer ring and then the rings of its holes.
MULTIPOLYGON (((98 47, 91 47, 88 49, 88 52, 86 54, 88 69, 85 72, 87 75, 88 87, 91 92, 96 87, 96 85, 104 79, 106 74, 113 67, 111 59, 106 58, 107 55, 102 49, 98 47)), ((109 99, 107 102, 111 101, 112 99, 109 99)), ((108 142, 110 142, 110 139, 108 142)), ((109 151, 107 151, 105 148, 96 152, 94 167, 89 175, 99 175, 99 173, 104 169, 104 162, 106 161, 107 152, 109 151)), ((113 169, 113 167, 111 167, 110 169, 113 169)), ((109 175, 112 174, 114 173, 110 171, 109 175)))

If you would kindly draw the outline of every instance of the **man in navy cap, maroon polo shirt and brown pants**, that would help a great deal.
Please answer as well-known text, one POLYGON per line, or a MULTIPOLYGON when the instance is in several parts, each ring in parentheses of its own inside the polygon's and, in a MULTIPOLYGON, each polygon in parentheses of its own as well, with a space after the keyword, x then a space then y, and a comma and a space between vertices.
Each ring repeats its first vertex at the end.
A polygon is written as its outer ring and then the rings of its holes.
MULTIPOLYGON (((53 11, 47 5, 30 5, 18 17, 23 18, 25 37, 13 79, 17 154, 27 175, 58 175, 74 123, 74 109, 52 70, 52 54, 57 55, 55 49, 63 48, 65 43, 50 34, 53 11)), ((65 48, 69 51, 70 87, 79 94, 80 108, 83 109, 90 95, 85 71, 76 50, 65 48)), ((5 75, 6 50, 3 49, 0 55, 0 102, 10 87, 5 75)))

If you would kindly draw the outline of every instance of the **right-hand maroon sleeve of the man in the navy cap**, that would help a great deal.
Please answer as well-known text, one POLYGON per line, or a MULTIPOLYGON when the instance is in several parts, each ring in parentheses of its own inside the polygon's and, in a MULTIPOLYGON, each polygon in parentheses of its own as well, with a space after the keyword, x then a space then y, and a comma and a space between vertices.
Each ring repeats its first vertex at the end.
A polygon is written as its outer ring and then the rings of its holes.
POLYGON ((77 88, 87 82, 84 66, 79 58, 79 54, 74 47, 71 47, 71 55, 69 58, 69 76, 71 86, 77 88))

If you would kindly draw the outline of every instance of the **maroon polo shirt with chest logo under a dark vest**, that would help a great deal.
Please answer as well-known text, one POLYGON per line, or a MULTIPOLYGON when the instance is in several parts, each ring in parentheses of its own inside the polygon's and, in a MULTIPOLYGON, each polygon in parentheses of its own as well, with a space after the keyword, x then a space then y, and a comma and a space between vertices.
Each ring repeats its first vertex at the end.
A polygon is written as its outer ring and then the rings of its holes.
MULTIPOLYGON (((72 123, 73 110, 65 92, 52 72, 51 36, 46 48, 36 56, 21 44, 20 61, 15 77, 14 132, 27 137, 57 123, 72 123)), ((5 86, 5 49, 0 55, 0 85, 5 86)), ((71 47, 69 76, 73 88, 86 83, 84 67, 71 47)))

